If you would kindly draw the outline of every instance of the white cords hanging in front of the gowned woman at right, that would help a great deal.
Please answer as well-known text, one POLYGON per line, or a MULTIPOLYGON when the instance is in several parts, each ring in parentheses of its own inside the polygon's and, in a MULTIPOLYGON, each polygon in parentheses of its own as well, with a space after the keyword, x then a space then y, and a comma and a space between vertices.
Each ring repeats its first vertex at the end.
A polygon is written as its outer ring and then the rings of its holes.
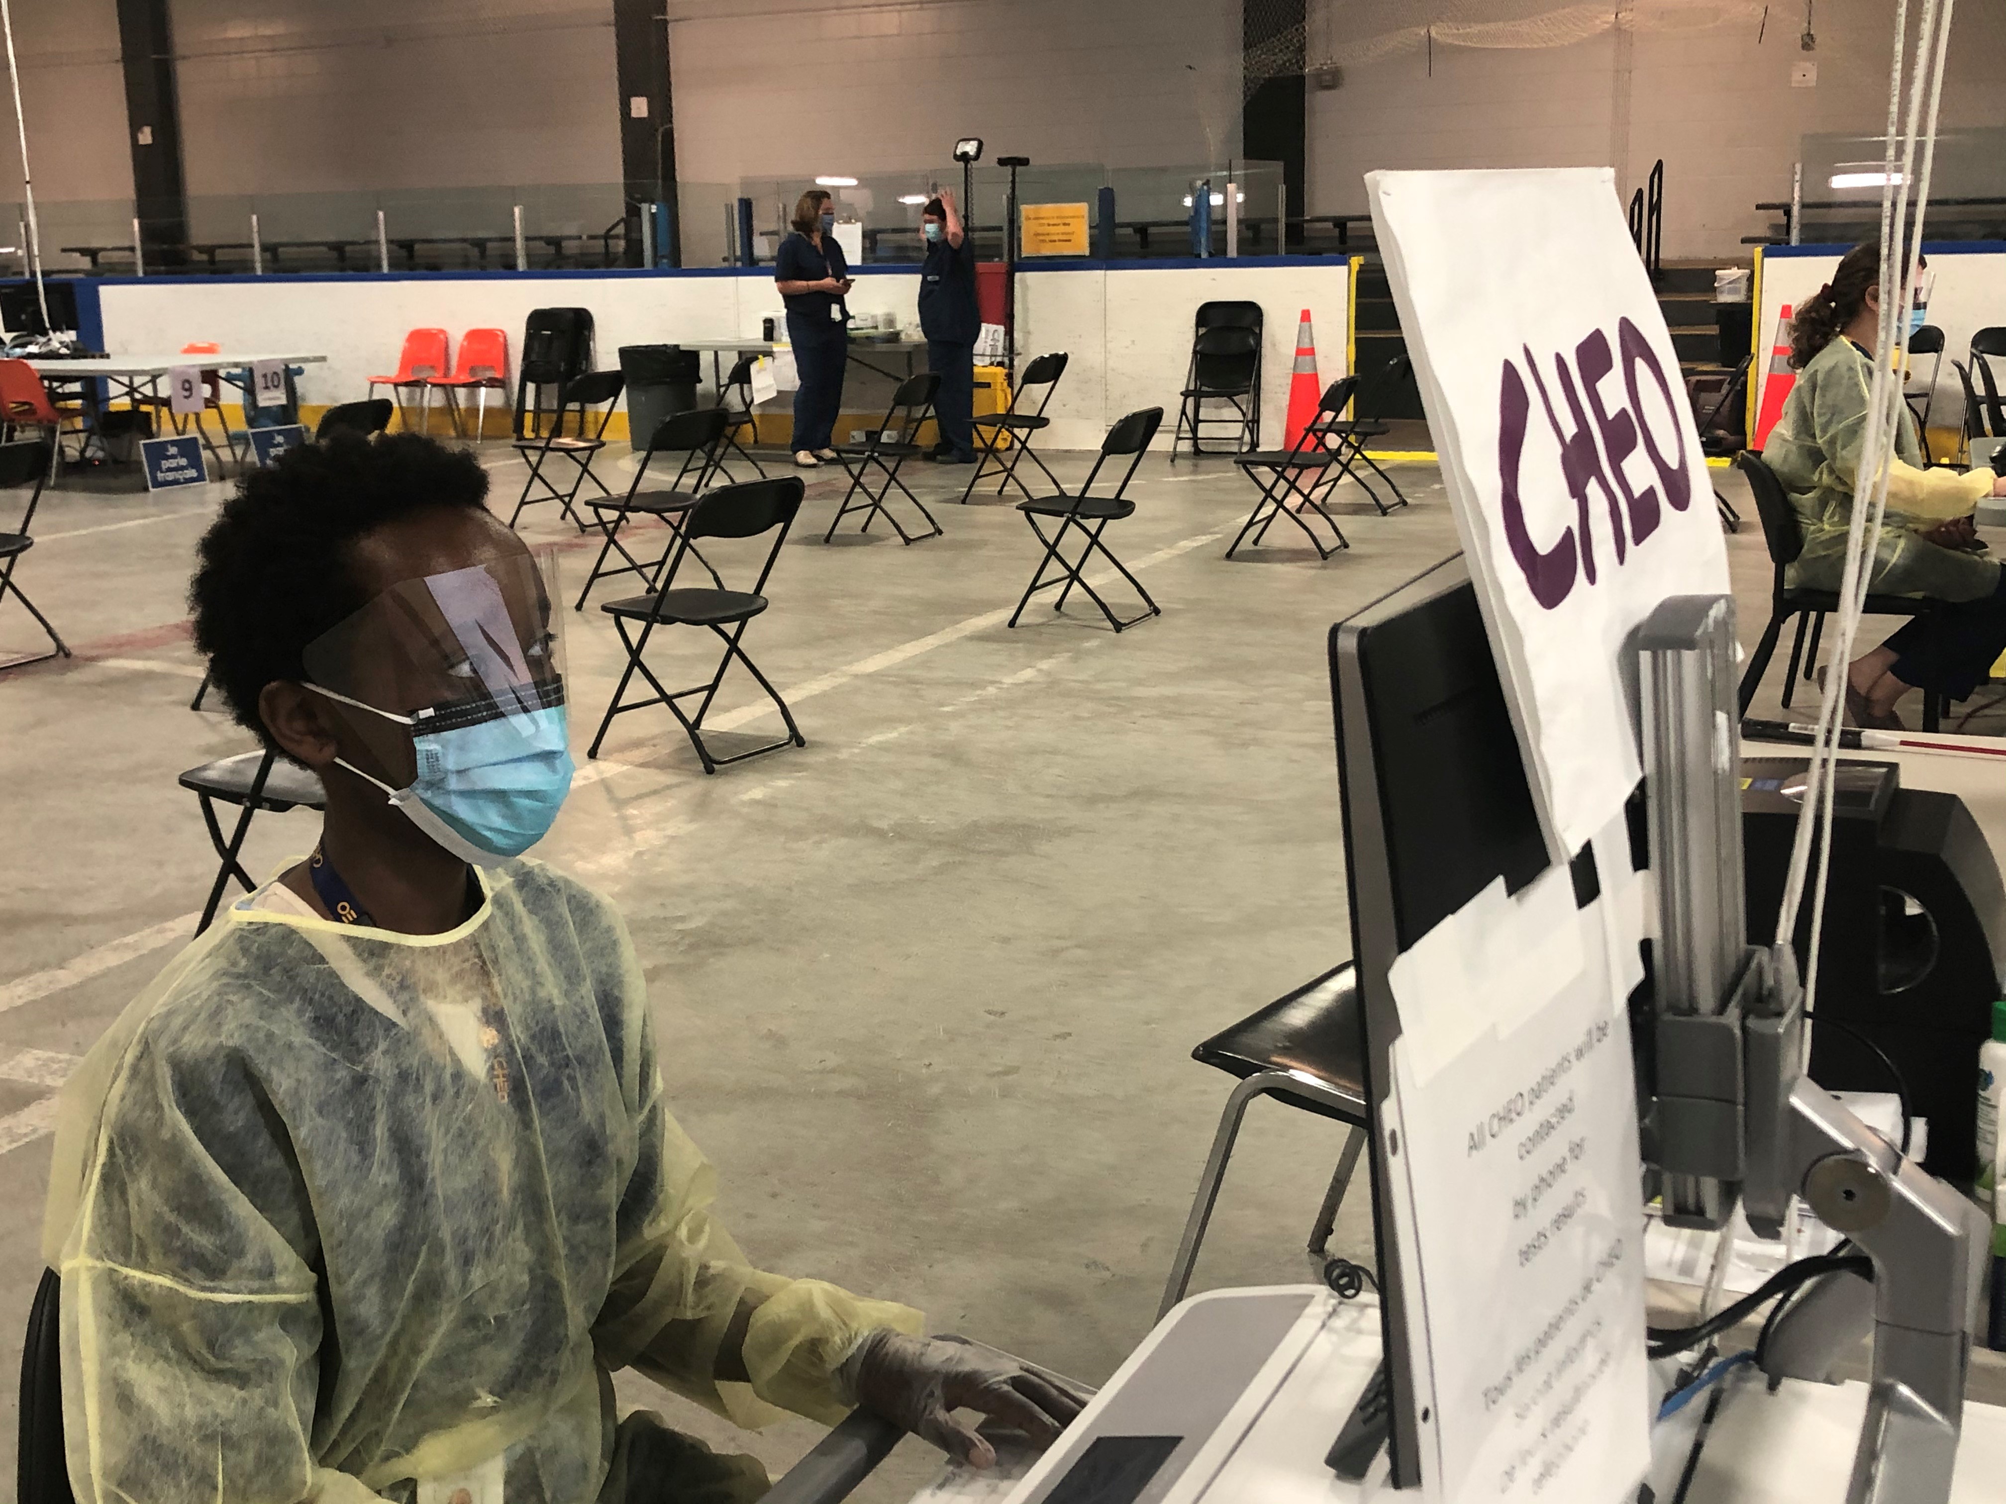
MULTIPOLYGON (((1803 808, 1797 816, 1797 834, 1791 844, 1791 864, 1785 878, 1783 902, 1777 914, 1777 936, 1795 932, 1797 912, 1803 898, 1803 880, 1809 870, 1813 830, 1817 834, 1817 880, 1811 886, 1811 926, 1803 969, 1805 1009, 1815 1009, 1817 999, 1817 955, 1823 932, 1825 886, 1831 862, 1831 828, 1835 816, 1835 778, 1840 712, 1846 704, 1846 680, 1837 678, 1852 664, 1854 638, 1874 580, 1878 561, 1880 529, 1888 509, 1888 485, 1896 451, 1898 425, 1902 421, 1902 397, 1896 371, 1908 351, 1908 309, 1910 289, 1916 279, 1916 257, 1922 245, 1922 225, 1928 213, 1930 178, 1936 164, 1936 120, 1942 102, 1944 60, 1950 44, 1950 18, 1954 0, 1924 0, 1922 22, 1916 38, 1916 58, 1910 86, 1902 90, 1902 62, 1908 34, 1906 0, 1896 8, 1894 64, 1890 68, 1888 98, 1888 138, 1884 150, 1882 182, 1882 267, 1880 267, 1880 323, 1874 345, 1874 377, 1868 387, 1868 425, 1860 447, 1860 463, 1854 473, 1854 509, 1846 539, 1846 570, 1840 584, 1840 624, 1833 640, 1833 656, 1825 672, 1823 702, 1819 706, 1817 734, 1811 748, 1811 766, 1805 778, 1803 808), (1906 128, 1898 134, 1902 106, 1906 102, 1906 128), (1896 142, 1900 140, 1900 166, 1896 142), (1916 152, 1922 148, 1922 170, 1916 172, 1916 152), (1916 223, 1908 225, 1908 184, 1916 191, 1916 223), (1898 195, 1896 189, 1902 189, 1898 195), (1908 249, 1904 257, 1902 251, 1908 249), (1866 477, 1866 487, 1862 479, 1866 477)), ((1809 1047, 1809 1041, 1805 1041, 1809 1047)))

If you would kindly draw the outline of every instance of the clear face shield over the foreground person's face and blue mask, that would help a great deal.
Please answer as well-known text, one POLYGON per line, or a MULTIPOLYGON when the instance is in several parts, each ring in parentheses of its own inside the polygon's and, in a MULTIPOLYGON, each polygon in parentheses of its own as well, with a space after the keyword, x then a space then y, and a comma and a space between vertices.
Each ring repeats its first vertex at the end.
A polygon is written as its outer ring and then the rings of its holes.
POLYGON ((491 866, 534 846, 572 786, 560 648, 544 574, 518 553, 391 586, 305 664, 365 752, 339 766, 491 866))

